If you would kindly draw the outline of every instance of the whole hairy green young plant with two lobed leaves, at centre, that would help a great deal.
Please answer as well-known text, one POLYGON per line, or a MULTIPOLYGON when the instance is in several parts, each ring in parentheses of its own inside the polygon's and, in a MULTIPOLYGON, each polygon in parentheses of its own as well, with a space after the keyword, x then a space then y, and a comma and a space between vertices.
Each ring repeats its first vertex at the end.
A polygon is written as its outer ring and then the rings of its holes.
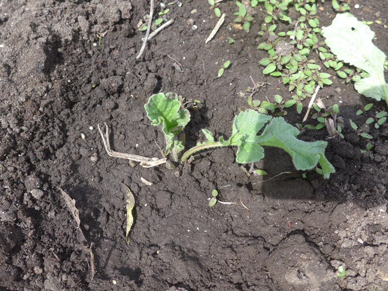
MULTIPOLYGON (((179 140, 178 133, 183 130, 190 120, 190 113, 186 110, 179 110, 180 102, 176 94, 163 93, 151 96, 145 105, 148 118, 152 125, 162 125, 162 132, 165 136, 165 154, 171 153, 175 161, 178 161, 178 154, 183 150, 183 143, 179 140), (172 97, 173 99, 169 99, 172 97)), ((329 178, 335 172, 332 164, 325 158, 324 150, 327 143, 324 141, 305 142, 298 140, 296 136, 299 130, 288 124, 283 117, 268 116, 254 110, 241 112, 234 118, 232 134, 229 139, 220 137, 215 141, 212 133, 202 129, 206 141, 197 143, 180 158, 180 162, 186 160, 201 150, 207 150, 223 146, 237 146, 236 161, 238 163, 259 162, 264 158, 262 146, 275 146, 284 149, 291 155, 292 162, 296 169, 307 170, 316 168, 319 163, 323 178, 329 178), (268 123, 268 124, 267 124, 268 123), (262 133, 258 132, 265 126, 262 133)))

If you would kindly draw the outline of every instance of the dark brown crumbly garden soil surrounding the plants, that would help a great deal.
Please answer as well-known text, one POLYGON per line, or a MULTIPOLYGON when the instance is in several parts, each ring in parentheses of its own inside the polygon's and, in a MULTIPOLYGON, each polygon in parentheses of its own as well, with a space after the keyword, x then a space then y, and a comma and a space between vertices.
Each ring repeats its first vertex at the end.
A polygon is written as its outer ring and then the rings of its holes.
MULTIPOLYGON (((318 2, 321 24, 329 25, 331 1, 318 2)), ((388 14, 385 0, 356 3, 351 13, 360 20, 388 14)), ((388 127, 370 128, 371 158, 360 152, 368 140, 348 123, 364 123, 385 103, 356 116, 372 100, 343 79, 332 78, 318 96, 339 104, 344 140, 328 139, 325 129, 299 137, 328 142, 337 171, 328 180, 315 171, 302 178, 290 156, 272 148, 256 168, 268 172, 265 179, 291 174, 265 182, 242 171, 234 148, 201 152, 174 170, 107 155, 98 123, 109 125, 113 149, 162 157, 163 136, 144 110, 160 91, 202 102, 189 106, 187 147, 203 141, 200 129, 230 136, 234 115, 247 106, 237 93, 251 85, 249 76, 271 83, 255 98, 291 97, 259 65, 262 6, 250 11, 256 22, 247 34, 233 24, 235 2, 222 2, 225 23, 205 44, 218 18, 207 1, 182 4, 168 6, 166 19, 175 22, 136 60, 145 35, 137 25, 149 1, 0 1, 1 290, 388 290, 388 127), (231 66, 217 79, 226 60, 231 66), (129 244, 122 184, 136 201, 129 244), (59 189, 75 200, 87 242, 59 189), (221 201, 238 203, 210 208, 213 189, 221 201), (339 265, 345 277, 337 276, 339 265)), ((371 28, 388 54, 388 29, 371 28)), ((286 120, 301 123, 308 101, 300 115, 288 109, 286 120)))

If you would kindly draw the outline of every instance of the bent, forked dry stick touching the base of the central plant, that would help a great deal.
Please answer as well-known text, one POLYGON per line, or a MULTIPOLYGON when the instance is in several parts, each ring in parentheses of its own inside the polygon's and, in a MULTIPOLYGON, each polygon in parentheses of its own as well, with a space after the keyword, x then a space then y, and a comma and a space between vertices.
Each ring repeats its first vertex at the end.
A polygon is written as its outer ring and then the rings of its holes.
POLYGON ((148 158, 144 156, 113 151, 111 149, 111 144, 109 143, 109 128, 106 123, 104 124, 105 124, 105 137, 99 124, 97 124, 97 128, 98 128, 98 131, 100 132, 102 142, 104 143, 105 150, 108 156, 111 156, 114 158, 120 158, 120 159, 127 159, 134 162, 140 162, 140 165, 143 166, 144 168, 154 167, 154 166, 163 164, 167 161, 167 159, 148 158))

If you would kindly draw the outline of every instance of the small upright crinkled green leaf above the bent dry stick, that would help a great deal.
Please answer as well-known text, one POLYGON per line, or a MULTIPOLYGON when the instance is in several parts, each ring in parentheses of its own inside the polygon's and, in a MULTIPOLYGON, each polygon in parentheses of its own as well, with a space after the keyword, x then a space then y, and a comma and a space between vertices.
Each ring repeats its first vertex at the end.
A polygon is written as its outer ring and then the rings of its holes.
POLYGON ((176 94, 158 93, 149 97, 148 102, 144 105, 148 118, 152 121, 152 125, 162 125, 166 141, 165 154, 171 152, 172 149, 179 152, 183 149, 181 141, 178 141, 176 136, 190 121, 190 113, 187 109, 180 108, 180 102, 176 94), (175 98, 169 99, 173 96, 175 98))

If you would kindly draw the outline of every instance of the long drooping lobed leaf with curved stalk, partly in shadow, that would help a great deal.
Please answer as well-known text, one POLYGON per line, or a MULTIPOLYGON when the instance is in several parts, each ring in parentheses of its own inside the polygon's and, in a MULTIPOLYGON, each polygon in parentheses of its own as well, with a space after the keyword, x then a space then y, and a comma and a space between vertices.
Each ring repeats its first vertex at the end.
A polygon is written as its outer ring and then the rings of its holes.
POLYGON ((221 137, 215 141, 211 132, 202 129, 207 139, 204 143, 198 143, 186 151, 181 158, 185 162, 194 153, 222 146, 237 146, 236 161, 238 163, 259 162, 264 158, 262 146, 275 146, 284 149, 291 155, 292 162, 297 170, 312 169, 319 163, 322 167, 324 178, 329 178, 334 173, 334 167, 324 156, 326 142, 305 142, 298 140, 296 136, 299 130, 288 124, 283 117, 268 116, 254 110, 248 110, 235 117, 232 135, 228 140, 221 137), (264 127, 260 135, 258 132, 264 127))

